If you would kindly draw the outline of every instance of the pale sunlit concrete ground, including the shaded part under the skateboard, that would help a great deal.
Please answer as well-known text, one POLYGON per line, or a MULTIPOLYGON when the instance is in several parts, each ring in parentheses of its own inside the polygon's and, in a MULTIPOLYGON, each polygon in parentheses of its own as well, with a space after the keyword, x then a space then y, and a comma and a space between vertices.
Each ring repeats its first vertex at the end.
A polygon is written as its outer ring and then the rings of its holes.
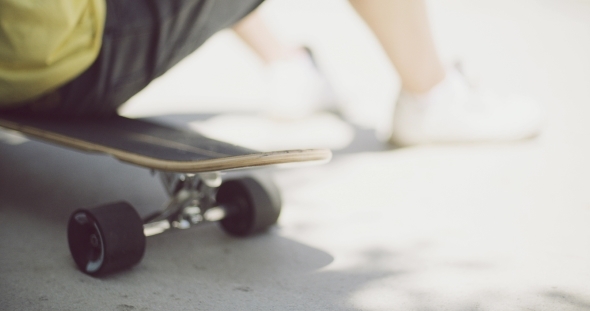
POLYGON ((4 133, 0 310, 590 310, 590 2, 445 0, 430 10, 445 60, 546 107, 540 137, 382 143, 398 79, 351 9, 269 1, 264 17, 286 42, 316 50, 349 121, 258 117, 269 101, 262 65, 228 32, 122 112, 260 148, 333 148, 327 165, 274 171, 280 224, 246 239, 214 224, 150 237, 135 268, 88 277, 69 255, 69 214, 116 200, 146 214, 166 199, 158 180, 4 133))

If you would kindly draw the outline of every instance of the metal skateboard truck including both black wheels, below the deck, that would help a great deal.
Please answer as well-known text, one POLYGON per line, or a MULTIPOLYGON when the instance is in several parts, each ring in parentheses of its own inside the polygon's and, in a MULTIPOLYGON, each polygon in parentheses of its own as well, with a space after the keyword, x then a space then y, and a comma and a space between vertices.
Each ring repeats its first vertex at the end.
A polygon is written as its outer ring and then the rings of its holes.
POLYGON ((234 236, 268 229, 281 211, 278 190, 272 183, 251 177, 222 182, 221 174, 157 172, 170 200, 145 219, 126 202, 75 211, 68 223, 68 244, 84 273, 98 276, 139 263, 146 236, 168 229, 218 221, 234 236))

